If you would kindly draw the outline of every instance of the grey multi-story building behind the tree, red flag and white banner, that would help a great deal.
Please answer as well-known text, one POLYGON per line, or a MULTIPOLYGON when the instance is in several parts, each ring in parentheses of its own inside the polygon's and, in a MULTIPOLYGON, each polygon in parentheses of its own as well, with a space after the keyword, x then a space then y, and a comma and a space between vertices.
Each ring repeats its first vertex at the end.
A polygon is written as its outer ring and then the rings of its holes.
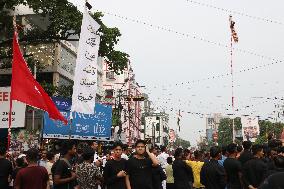
MULTIPOLYGON (((14 13, 11 12, 11 15, 14 13)), ((23 26, 23 29, 30 28, 31 25, 37 26, 39 29, 47 29, 48 20, 43 19, 39 14, 33 12, 31 8, 24 5, 19 5, 15 8, 17 15, 17 23, 23 26)), ((79 39, 78 36, 72 36, 73 39, 79 39)), ((0 39, 5 39, 4 34, 0 34, 0 39)), ((20 44, 21 45, 21 44, 20 44)), ((76 66, 78 41, 60 41, 51 43, 42 43, 36 45, 21 45, 25 57, 32 56, 38 61, 39 65, 34 67, 36 71, 36 79, 39 82, 52 84, 55 87, 73 85, 74 71, 76 66), (38 67, 42 67, 39 70, 38 67)), ((103 77, 103 59, 98 58, 97 77, 98 90, 96 94, 97 100, 101 100, 104 96, 102 85, 103 77)), ((33 70, 33 71, 34 71, 33 70)), ((0 87, 10 86, 11 68, 5 67, 0 60, 0 87)), ((42 128, 42 112, 33 109, 27 109, 26 112, 26 127, 33 129, 42 128), (34 119, 32 119, 34 115, 34 119)))

